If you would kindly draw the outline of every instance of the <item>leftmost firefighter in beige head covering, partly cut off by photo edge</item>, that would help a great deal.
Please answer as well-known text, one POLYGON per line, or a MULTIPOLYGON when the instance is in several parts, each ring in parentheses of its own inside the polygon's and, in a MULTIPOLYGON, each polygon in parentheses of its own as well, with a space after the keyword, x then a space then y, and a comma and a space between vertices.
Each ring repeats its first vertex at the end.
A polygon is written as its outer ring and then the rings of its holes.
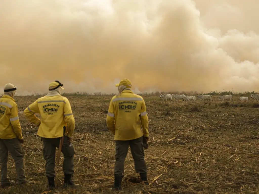
POLYGON ((31 184, 26 181, 24 170, 24 143, 21 134, 21 125, 18 117, 18 107, 14 100, 16 86, 6 84, 4 95, 0 99, 0 162, 1 162, 1 187, 10 186, 7 175, 8 152, 15 161, 18 184, 31 184))

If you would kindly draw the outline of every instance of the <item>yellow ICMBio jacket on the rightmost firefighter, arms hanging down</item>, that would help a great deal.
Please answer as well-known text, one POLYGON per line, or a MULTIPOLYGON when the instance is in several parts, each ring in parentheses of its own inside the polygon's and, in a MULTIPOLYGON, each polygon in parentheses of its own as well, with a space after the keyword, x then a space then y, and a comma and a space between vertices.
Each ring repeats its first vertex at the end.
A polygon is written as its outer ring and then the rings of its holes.
POLYGON ((114 135, 114 140, 132 140, 143 135, 148 137, 148 117, 144 99, 130 90, 113 96, 106 123, 114 135))

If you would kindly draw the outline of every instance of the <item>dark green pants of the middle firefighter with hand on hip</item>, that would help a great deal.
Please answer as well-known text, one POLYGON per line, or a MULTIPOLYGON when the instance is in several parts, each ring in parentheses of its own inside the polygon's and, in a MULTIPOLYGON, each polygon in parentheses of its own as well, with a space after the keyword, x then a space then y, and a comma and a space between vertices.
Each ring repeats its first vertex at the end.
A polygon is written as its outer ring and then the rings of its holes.
MULTIPOLYGON (((46 176, 55 177, 55 159, 56 147, 59 147, 61 138, 42 138, 43 141, 43 157, 46 160, 46 176)), ((68 145, 68 137, 64 136, 64 143, 61 148, 64 155, 63 172, 64 174, 74 174, 74 154, 75 149, 73 144, 68 145)))

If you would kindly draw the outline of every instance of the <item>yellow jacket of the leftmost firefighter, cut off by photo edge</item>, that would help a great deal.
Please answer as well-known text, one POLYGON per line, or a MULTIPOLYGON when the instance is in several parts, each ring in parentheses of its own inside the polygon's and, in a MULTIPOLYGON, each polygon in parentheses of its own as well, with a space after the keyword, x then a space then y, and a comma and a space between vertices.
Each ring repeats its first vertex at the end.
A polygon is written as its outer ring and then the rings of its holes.
POLYGON ((15 100, 8 95, 0 98, 0 139, 23 139, 15 100))

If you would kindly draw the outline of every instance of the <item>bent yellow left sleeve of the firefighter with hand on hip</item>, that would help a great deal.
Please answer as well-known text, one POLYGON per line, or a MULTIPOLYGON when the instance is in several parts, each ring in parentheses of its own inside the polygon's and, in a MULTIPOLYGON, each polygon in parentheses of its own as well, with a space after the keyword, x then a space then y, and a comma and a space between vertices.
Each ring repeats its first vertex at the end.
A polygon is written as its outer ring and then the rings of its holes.
POLYGON ((40 125, 41 120, 36 117, 34 114, 35 113, 40 113, 39 107, 38 107, 38 100, 33 102, 31 105, 29 105, 25 110, 24 110, 24 116, 32 123, 34 123, 36 126, 40 125))

